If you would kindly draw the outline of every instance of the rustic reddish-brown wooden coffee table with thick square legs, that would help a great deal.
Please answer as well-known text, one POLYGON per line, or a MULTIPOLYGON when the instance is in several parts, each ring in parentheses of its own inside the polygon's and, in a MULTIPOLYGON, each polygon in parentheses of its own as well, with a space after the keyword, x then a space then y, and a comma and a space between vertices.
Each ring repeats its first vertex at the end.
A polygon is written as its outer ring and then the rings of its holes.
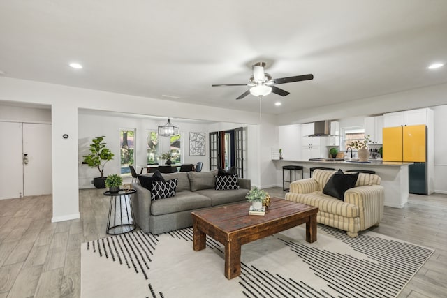
POLYGON ((249 215, 249 202, 192 212, 193 249, 205 248, 206 235, 225 246, 225 276, 240 276, 242 244, 306 223, 306 241, 316 241, 317 207, 272 198, 265 216, 249 215))

